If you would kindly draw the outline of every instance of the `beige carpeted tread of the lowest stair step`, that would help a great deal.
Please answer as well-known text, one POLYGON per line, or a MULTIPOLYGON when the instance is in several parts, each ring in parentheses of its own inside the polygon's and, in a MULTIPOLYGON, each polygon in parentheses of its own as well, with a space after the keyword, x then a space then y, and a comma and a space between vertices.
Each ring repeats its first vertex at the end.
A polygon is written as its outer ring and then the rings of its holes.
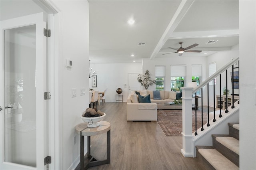
MULTIPOLYGON (((210 146, 211 147, 211 146, 210 146)), ((228 158, 213 148, 200 148, 198 152, 216 169, 216 170, 239 170, 238 166, 232 163, 228 158)))

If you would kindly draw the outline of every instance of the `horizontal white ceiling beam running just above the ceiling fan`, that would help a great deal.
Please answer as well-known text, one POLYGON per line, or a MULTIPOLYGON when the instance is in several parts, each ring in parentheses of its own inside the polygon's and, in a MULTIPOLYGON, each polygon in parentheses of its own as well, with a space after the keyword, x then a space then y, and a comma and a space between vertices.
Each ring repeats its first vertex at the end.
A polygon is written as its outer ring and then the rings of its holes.
POLYGON ((170 34, 168 39, 214 38, 214 37, 234 37, 234 36, 239 36, 239 30, 172 32, 172 34, 170 34))

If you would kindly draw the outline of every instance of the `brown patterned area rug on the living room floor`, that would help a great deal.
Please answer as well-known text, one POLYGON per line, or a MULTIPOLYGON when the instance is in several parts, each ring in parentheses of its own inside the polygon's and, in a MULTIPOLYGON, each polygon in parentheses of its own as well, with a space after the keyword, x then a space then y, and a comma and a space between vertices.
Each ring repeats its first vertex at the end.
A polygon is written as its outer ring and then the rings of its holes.
MULTIPOLYGON (((197 129, 201 127, 201 111, 196 111, 197 129)), ((157 123, 165 136, 182 136, 182 110, 157 111, 157 123)), ((207 123, 207 113, 203 113, 203 125, 207 123)), ((192 132, 195 132, 195 111, 192 111, 192 132)))

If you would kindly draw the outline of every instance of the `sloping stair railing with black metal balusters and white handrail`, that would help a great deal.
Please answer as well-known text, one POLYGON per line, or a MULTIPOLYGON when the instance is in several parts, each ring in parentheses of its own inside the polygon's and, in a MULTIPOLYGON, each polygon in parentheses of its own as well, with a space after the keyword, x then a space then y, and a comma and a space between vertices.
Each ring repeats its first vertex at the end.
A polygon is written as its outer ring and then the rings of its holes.
MULTIPOLYGON (((236 59, 236 61, 238 61, 238 76, 239 76, 239 60, 238 59, 236 59)), ((229 67, 231 67, 232 66, 232 106, 231 106, 231 108, 233 109, 235 106, 234 106, 234 63, 235 63, 235 61, 233 61, 233 62, 231 62, 231 64, 229 65, 229 67)), ((228 65, 225 65, 224 66, 225 68, 223 69, 220 69, 220 71, 222 71, 222 72, 224 72, 224 71, 226 71, 226 100, 224 100, 224 106, 223 106, 223 111, 225 110, 225 113, 228 113, 228 89, 227 89, 227 87, 228 87, 228 65)), ((215 107, 217 106, 218 107, 218 104, 219 104, 219 106, 220 106, 220 113, 219 113, 219 117, 221 118, 222 117, 222 95, 221 95, 221 73, 222 72, 220 72, 220 71, 218 71, 218 72, 216 72, 219 76, 220 76, 220 103, 218 103, 218 100, 217 100, 217 105, 215 105, 215 77, 214 76, 216 76, 217 77, 217 74, 215 73, 214 75, 212 75, 212 76, 210 76, 208 79, 206 79, 206 81, 208 81, 208 82, 203 82, 202 83, 202 85, 200 85, 200 86, 198 86, 198 87, 196 87, 196 88, 194 88, 193 89, 193 93, 195 94, 195 105, 197 106, 198 105, 198 100, 196 100, 196 98, 197 98, 197 94, 196 94, 196 91, 198 91, 198 90, 201 90, 201 108, 202 108, 202 110, 201 110, 201 131, 203 131, 204 130, 204 124, 203 124, 203 118, 204 118, 204 114, 203 114, 203 88, 207 85, 207 109, 208 109, 208 111, 207 111, 207 127, 209 127, 210 126, 210 121, 209 121, 209 93, 213 93, 213 102, 214 102, 214 109, 213 109, 213 122, 216 122, 216 119, 215 119, 215 117, 216 117, 216 109, 215 109, 215 107), (211 92, 210 90, 209 90, 209 82, 210 81, 213 81, 213 91, 211 92)), ((239 96, 239 83, 238 83, 238 96, 239 96)), ((239 98, 238 98, 238 104, 239 104, 239 98)), ((197 135, 198 133, 197 133, 197 107, 195 107, 195 129, 196 129, 196 132, 194 133, 195 135, 197 135)))

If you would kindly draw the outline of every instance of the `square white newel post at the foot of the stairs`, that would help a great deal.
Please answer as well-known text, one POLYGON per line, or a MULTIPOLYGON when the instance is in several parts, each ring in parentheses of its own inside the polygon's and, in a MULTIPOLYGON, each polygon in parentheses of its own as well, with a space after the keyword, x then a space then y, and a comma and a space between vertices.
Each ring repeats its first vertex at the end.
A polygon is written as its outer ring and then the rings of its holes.
POLYGON ((182 87, 182 149, 185 157, 194 156, 192 135, 192 90, 193 87, 182 87))

